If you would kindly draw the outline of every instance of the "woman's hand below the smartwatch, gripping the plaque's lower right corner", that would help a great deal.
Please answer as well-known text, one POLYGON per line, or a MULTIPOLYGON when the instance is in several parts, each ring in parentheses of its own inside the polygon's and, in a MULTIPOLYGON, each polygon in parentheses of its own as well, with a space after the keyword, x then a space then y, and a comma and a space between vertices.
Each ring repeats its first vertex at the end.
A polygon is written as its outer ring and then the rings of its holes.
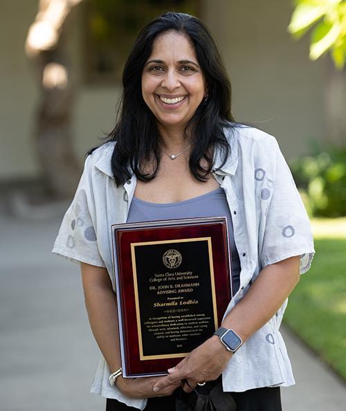
POLYGON ((185 380, 183 390, 191 392, 197 383, 214 381, 226 367, 232 353, 222 345, 219 337, 212 336, 205 343, 190 352, 179 364, 168 370, 170 374, 154 385, 154 392, 185 380))

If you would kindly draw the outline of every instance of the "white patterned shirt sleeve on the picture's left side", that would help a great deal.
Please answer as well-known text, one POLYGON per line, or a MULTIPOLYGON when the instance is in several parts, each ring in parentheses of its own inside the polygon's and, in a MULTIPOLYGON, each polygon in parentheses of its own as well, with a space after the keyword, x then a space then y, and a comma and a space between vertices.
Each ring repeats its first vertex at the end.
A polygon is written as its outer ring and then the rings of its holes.
POLYGON ((75 197, 64 215, 52 252, 73 262, 85 262, 104 267, 95 234, 91 169, 92 155, 86 158, 75 197))

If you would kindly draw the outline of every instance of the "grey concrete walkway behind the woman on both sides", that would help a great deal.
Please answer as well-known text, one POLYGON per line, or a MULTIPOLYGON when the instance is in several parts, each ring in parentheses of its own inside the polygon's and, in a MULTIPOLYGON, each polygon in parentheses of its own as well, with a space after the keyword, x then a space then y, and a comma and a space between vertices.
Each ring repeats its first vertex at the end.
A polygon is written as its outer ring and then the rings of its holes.
MULTIPOLYGON (((61 217, 0 210, 0 410, 98 411, 89 394, 100 354, 84 310, 77 264, 51 255, 61 217)), ((297 385, 284 410, 345 409, 346 386, 287 331, 297 385)))

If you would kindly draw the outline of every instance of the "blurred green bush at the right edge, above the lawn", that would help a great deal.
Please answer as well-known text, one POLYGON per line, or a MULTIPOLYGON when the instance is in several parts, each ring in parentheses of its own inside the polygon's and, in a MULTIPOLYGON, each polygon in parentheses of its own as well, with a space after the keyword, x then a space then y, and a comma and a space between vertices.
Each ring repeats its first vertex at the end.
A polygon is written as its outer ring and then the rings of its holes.
POLYGON ((311 216, 346 216, 346 147, 295 158, 291 171, 311 216))

